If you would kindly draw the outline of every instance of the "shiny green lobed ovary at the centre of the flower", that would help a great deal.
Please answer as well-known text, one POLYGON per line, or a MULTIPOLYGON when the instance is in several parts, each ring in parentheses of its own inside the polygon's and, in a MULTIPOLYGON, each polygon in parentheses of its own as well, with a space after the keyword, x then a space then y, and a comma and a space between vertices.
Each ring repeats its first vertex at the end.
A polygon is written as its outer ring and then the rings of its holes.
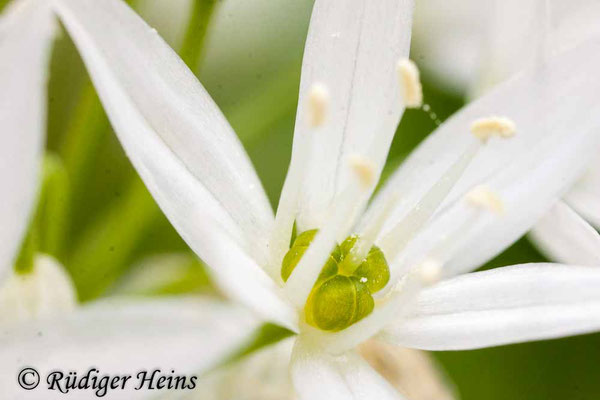
MULTIPOLYGON (((317 234, 302 232, 283 258, 281 277, 287 281, 317 234)), ((352 263, 350 251, 358 240, 349 236, 329 256, 304 306, 306 322, 325 331, 340 331, 369 315, 375 307, 372 294, 390 279, 381 249, 371 247, 367 257, 352 263)))

